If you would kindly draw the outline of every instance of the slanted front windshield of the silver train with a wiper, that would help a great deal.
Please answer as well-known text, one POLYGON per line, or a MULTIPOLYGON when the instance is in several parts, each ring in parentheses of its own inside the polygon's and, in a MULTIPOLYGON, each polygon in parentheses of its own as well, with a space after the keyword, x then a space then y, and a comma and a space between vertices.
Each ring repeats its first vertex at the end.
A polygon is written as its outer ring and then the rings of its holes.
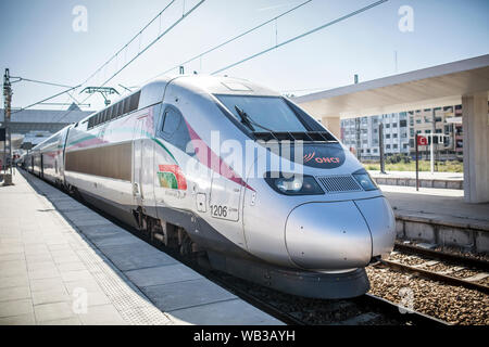
POLYGON ((251 131, 304 132, 297 114, 278 97, 215 95, 251 131))

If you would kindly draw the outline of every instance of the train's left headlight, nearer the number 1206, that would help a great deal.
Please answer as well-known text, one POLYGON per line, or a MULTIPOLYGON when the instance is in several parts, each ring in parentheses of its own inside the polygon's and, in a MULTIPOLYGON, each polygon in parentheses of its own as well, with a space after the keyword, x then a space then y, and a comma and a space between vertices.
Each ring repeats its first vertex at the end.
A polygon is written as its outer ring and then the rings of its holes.
POLYGON ((317 195, 324 194, 314 177, 306 175, 271 175, 265 180, 272 189, 285 195, 317 195))

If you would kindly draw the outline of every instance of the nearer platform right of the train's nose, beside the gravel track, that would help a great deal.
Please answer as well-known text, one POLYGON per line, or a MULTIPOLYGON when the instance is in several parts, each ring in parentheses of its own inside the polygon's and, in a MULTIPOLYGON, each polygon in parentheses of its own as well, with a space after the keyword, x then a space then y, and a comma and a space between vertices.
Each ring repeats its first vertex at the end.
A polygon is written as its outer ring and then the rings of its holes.
POLYGON ((489 203, 468 204, 461 190, 383 185, 399 239, 489 253, 489 203))

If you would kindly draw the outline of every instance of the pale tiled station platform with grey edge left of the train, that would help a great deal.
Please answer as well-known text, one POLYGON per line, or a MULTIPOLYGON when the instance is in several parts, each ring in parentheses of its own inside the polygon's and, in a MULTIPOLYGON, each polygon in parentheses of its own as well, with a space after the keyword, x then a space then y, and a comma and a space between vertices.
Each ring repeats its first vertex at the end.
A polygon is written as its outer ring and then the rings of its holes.
POLYGON ((0 325, 283 324, 68 195, 0 187, 0 325))

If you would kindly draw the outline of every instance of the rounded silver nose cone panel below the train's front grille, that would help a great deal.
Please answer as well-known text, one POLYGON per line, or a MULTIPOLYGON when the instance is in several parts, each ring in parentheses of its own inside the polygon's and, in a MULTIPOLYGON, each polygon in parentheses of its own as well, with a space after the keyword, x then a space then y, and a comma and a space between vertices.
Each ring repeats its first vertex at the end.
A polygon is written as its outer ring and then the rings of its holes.
POLYGON ((361 268, 372 258, 372 236, 352 201, 308 203, 296 207, 286 224, 289 256, 310 270, 361 268))

